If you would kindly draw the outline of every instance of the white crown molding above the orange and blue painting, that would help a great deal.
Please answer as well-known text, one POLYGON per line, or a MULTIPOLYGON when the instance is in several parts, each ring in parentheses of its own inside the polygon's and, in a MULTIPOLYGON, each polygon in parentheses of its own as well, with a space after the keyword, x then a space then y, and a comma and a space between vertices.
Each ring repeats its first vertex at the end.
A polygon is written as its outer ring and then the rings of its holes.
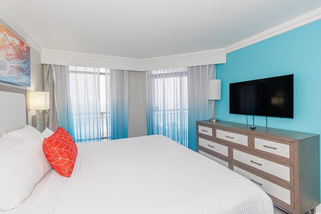
POLYGON ((41 54, 42 47, 30 36, 30 34, 3 8, 0 6, 0 20, 14 31, 26 44, 41 54))

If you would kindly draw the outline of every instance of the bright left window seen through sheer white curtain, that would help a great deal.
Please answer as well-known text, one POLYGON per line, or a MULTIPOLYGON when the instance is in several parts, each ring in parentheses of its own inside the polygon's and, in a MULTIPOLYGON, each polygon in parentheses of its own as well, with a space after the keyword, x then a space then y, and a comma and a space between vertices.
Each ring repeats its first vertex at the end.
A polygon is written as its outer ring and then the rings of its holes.
POLYGON ((95 128, 100 130, 102 140, 110 140, 109 69, 69 66, 69 80, 75 135, 78 136, 79 141, 92 141, 92 139, 82 137, 82 133, 91 130, 90 126, 97 126, 95 128), (88 99, 88 101, 84 101, 84 99, 88 99), (97 114, 97 111, 99 111, 99 114, 97 114), (99 115, 98 119, 93 118, 96 115, 99 115), (90 124, 86 122, 88 118, 97 119, 100 124, 90 124), (82 125, 77 126, 79 123, 82 123, 82 125))

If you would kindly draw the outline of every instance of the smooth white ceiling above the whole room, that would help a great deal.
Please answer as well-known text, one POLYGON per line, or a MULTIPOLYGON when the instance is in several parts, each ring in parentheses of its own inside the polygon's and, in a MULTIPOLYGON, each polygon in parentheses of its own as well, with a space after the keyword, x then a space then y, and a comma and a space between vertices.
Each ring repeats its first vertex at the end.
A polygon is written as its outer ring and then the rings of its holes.
POLYGON ((1 6, 42 48, 142 59, 225 48, 321 1, 2 0, 1 6))

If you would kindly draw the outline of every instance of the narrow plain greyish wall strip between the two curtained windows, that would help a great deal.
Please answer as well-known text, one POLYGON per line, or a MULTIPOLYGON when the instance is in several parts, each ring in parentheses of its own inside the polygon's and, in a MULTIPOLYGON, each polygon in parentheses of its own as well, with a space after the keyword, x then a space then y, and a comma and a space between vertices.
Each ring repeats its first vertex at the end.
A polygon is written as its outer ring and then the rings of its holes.
POLYGON ((145 72, 128 71, 128 137, 146 134, 145 72))

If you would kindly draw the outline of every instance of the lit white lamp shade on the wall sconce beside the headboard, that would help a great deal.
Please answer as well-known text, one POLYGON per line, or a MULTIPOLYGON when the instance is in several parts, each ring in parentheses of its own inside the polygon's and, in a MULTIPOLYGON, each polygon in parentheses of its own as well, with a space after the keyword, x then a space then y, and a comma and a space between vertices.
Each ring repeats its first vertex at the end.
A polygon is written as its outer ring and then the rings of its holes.
POLYGON ((30 110, 49 109, 49 92, 31 91, 29 95, 30 110))

